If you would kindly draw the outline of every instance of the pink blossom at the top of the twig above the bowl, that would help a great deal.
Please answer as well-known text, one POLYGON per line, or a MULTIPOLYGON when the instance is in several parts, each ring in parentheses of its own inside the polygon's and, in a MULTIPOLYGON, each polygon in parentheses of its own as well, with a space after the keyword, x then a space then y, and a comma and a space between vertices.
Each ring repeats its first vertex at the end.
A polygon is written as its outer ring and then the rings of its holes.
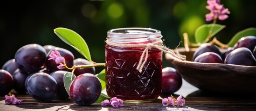
POLYGON ((230 14, 228 8, 224 8, 223 5, 220 4, 220 0, 207 0, 208 6, 206 8, 211 12, 206 14, 206 21, 211 21, 214 18, 218 18, 219 20, 225 20, 228 18, 227 14, 230 14))

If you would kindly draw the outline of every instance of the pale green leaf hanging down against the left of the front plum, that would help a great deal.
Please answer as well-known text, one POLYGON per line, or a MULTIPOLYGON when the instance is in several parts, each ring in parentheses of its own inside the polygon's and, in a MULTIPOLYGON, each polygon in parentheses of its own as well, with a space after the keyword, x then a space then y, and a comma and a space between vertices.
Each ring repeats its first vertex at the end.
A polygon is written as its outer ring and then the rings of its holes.
MULTIPOLYGON (((63 77, 63 82, 64 82, 64 87, 67 91, 67 93, 69 94, 69 88, 70 88, 70 85, 72 83, 72 81, 76 78, 76 75, 75 74, 72 74, 70 72, 66 72, 64 74, 64 77, 63 77)), ((70 96, 70 95, 69 95, 70 96)))

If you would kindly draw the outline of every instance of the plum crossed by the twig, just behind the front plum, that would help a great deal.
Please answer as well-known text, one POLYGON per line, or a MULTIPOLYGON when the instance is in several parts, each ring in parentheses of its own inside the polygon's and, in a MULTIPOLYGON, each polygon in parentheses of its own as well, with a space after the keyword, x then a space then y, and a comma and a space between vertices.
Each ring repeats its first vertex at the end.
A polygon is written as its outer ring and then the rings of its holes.
MULTIPOLYGON (((86 59, 82 59, 82 58, 78 58, 74 60, 74 65, 90 65, 92 64, 91 62, 89 62, 86 59)), ((84 73, 90 73, 90 74, 95 74, 95 68, 76 68, 74 71, 74 74, 76 76, 80 75, 80 74, 84 74, 84 73)))

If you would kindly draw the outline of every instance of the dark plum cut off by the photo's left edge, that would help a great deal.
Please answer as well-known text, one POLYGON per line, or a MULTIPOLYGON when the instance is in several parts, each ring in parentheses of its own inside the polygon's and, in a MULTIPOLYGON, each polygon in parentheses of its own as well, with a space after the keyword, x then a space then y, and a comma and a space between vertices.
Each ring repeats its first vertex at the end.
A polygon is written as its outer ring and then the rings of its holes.
POLYGON ((14 86, 13 76, 6 70, 0 69, 0 96, 8 94, 14 86))

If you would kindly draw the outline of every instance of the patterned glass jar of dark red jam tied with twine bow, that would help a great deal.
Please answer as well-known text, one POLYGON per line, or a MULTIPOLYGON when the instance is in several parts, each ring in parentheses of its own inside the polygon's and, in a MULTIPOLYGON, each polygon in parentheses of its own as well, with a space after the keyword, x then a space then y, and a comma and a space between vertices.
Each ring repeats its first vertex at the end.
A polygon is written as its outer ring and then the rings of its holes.
POLYGON ((162 51, 147 46, 162 43, 161 38, 161 32, 151 28, 118 28, 107 32, 105 69, 109 97, 135 103, 159 97, 162 51))

